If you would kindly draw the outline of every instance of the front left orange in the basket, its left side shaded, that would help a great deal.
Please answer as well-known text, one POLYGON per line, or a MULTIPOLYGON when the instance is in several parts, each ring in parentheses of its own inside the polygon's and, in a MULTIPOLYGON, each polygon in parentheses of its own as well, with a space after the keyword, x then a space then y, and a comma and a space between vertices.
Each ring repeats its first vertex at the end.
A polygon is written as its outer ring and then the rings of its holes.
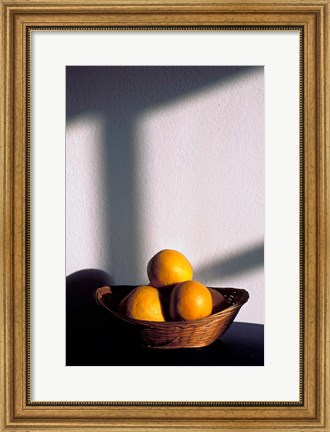
POLYGON ((160 293, 150 285, 134 288, 120 302, 119 312, 138 320, 165 321, 160 293))

